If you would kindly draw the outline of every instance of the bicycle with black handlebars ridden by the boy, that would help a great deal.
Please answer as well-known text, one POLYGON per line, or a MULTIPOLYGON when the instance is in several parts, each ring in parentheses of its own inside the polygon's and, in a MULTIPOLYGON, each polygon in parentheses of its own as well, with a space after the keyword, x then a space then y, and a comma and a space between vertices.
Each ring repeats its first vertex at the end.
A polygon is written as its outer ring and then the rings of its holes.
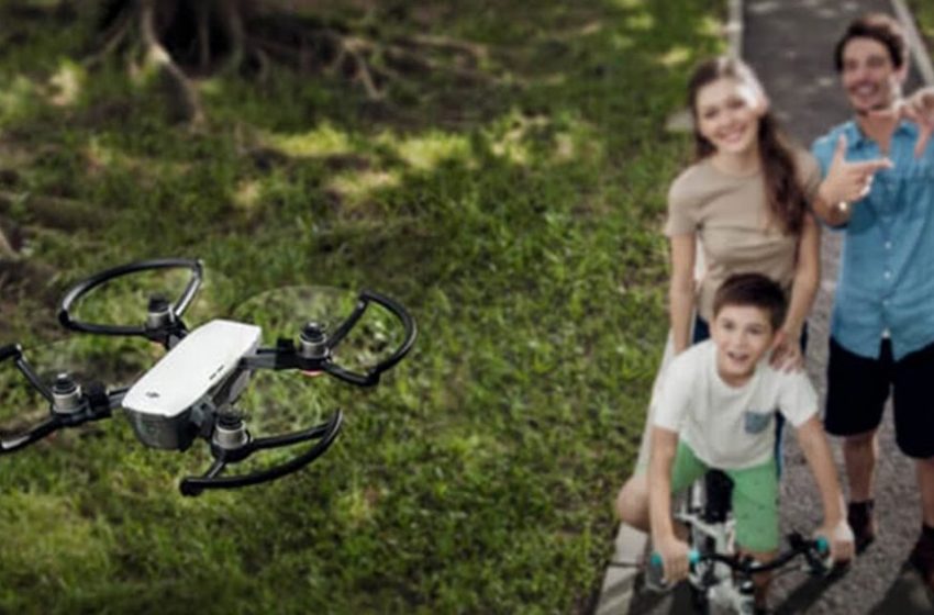
MULTIPOLYGON (((797 532, 787 536, 789 548, 767 563, 740 557, 735 551, 735 521, 730 506, 732 487, 725 473, 711 470, 703 481, 691 485, 675 513, 675 519, 688 528, 691 604, 703 615, 715 607, 740 615, 754 614, 753 578, 783 568, 799 557, 804 559, 803 570, 809 574, 823 577, 832 569, 827 541, 822 537, 809 540, 797 532)), ((666 589, 661 574, 661 558, 652 554, 646 568, 646 586, 666 589)))

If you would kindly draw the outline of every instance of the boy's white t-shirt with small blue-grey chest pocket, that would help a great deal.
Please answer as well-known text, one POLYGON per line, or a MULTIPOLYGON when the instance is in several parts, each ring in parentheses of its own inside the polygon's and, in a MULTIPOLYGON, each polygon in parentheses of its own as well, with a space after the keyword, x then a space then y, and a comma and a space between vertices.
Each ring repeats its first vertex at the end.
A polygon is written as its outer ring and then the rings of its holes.
POLYGON ((763 359, 748 382, 731 387, 716 371, 716 346, 708 339, 668 366, 654 423, 677 432, 712 468, 740 470, 774 455, 776 411, 796 427, 818 412, 804 372, 786 373, 763 359))

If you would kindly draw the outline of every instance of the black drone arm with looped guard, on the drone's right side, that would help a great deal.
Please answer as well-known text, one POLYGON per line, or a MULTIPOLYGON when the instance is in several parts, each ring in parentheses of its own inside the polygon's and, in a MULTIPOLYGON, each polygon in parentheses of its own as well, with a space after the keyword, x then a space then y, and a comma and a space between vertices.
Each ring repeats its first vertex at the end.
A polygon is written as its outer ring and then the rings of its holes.
POLYGON ((302 371, 324 371, 331 376, 356 384, 373 387, 379 382, 383 371, 391 369, 412 349, 418 336, 415 321, 397 301, 386 295, 364 290, 357 298, 354 311, 342 322, 330 336, 322 331, 305 329, 300 337, 299 346, 290 340, 280 342, 276 348, 260 348, 253 356, 245 357, 242 365, 247 369, 300 369, 302 371), (370 303, 377 303, 388 310, 402 324, 404 337, 399 347, 386 359, 369 367, 366 371, 353 371, 334 362, 332 351, 359 322, 370 303), (320 336, 312 340, 311 335, 320 336))

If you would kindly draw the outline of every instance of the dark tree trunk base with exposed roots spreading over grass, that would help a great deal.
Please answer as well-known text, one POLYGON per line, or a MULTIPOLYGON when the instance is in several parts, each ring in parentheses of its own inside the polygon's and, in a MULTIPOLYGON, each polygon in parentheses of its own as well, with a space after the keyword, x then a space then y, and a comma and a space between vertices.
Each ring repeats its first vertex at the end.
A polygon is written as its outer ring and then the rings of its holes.
POLYGON ((477 81, 486 57, 481 45, 418 35, 388 44, 356 37, 307 18, 270 12, 258 0, 102 0, 96 66, 124 53, 131 66, 158 72, 170 113, 198 124, 203 109, 193 79, 238 71, 265 79, 273 64, 338 75, 357 83, 370 101, 386 98, 390 81, 445 71, 460 82, 477 81), (454 66, 429 56, 453 56, 454 66))

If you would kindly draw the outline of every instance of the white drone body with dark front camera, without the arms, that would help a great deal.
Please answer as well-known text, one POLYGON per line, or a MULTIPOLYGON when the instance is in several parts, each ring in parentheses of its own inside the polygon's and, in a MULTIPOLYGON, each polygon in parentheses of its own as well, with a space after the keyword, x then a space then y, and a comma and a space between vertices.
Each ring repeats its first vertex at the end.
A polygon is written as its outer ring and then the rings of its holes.
POLYGON ((224 320, 185 336, 123 398, 136 436, 156 448, 188 448, 201 414, 235 400, 246 387, 251 372, 237 366, 256 351, 260 337, 258 326, 224 320))

